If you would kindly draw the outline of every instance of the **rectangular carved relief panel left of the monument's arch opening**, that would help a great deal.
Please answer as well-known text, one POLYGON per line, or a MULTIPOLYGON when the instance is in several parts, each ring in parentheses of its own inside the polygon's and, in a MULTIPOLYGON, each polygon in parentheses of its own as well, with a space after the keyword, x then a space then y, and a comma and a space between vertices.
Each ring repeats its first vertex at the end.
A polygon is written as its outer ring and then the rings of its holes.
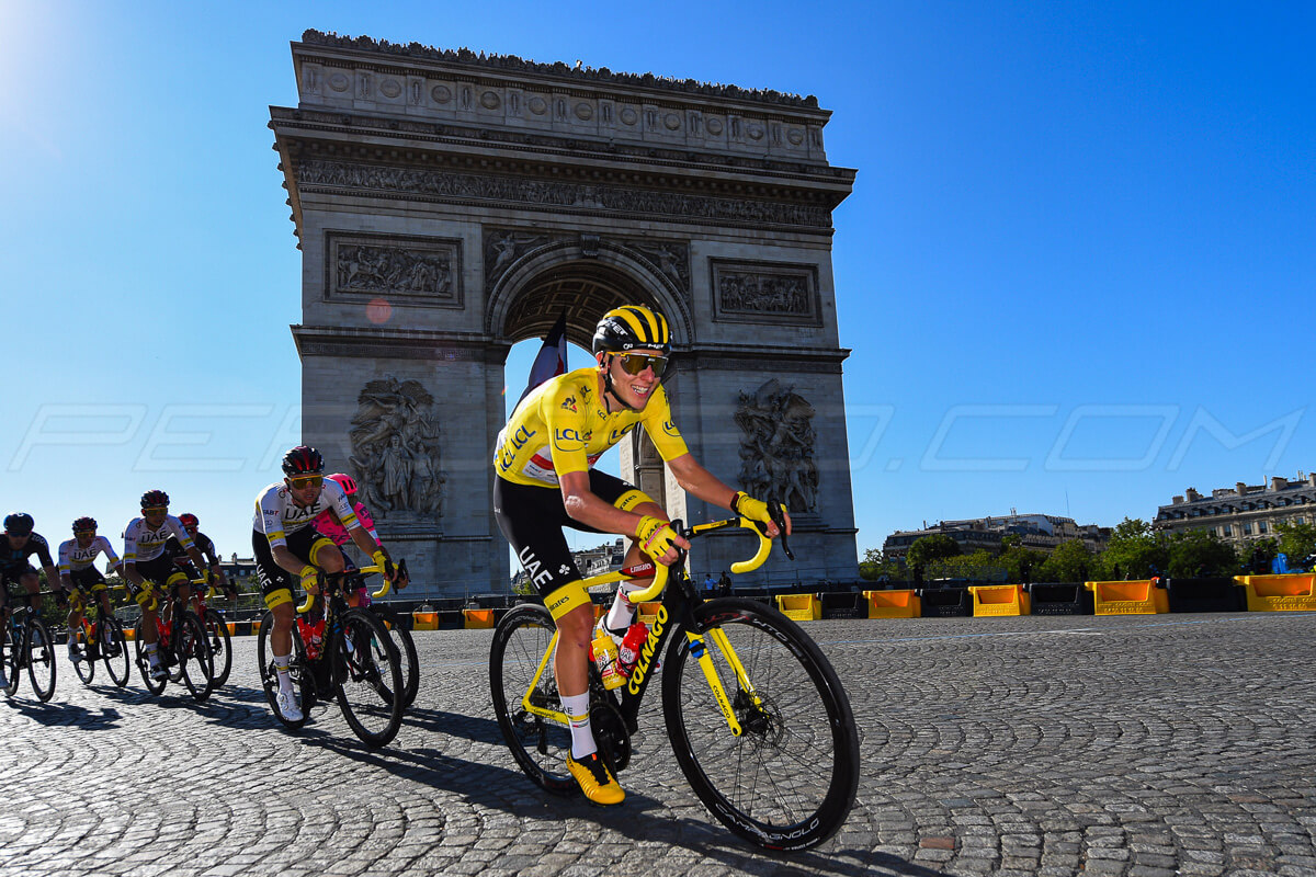
POLYGON ((451 238, 325 231, 325 298, 462 306, 462 243, 451 238))

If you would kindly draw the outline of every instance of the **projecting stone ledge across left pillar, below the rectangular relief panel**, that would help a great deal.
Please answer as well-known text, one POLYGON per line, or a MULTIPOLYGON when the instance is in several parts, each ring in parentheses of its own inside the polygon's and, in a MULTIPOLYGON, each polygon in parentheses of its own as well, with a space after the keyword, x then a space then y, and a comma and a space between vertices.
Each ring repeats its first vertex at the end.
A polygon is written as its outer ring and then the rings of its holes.
POLYGON ((425 362, 497 363, 511 344, 480 333, 390 329, 383 326, 304 326, 292 325, 297 355, 425 362))

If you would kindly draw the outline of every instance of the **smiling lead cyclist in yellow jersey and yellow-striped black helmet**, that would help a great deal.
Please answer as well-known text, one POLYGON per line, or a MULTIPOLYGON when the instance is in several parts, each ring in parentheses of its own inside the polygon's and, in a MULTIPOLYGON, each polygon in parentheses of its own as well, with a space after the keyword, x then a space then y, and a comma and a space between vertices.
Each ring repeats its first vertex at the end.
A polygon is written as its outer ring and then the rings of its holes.
MULTIPOLYGON (((625 565, 641 551, 658 563, 676 560, 690 543, 669 526, 662 506, 594 462, 637 426, 644 427, 682 489, 704 502, 767 525, 767 505, 733 490, 700 465, 672 423, 659 383, 671 354, 667 321, 649 308, 609 310, 594 334, 596 364, 537 387, 499 434, 494 454, 494 514, 558 626, 554 672, 563 711, 571 719, 567 769, 595 803, 621 803, 625 793, 597 755, 590 728, 588 648, 594 609, 562 527, 633 536, 625 565)), ((786 518, 787 534, 791 522, 786 518)), ((617 589, 599 626, 620 639, 634 606, 628 594, 653 580, 617 589)))

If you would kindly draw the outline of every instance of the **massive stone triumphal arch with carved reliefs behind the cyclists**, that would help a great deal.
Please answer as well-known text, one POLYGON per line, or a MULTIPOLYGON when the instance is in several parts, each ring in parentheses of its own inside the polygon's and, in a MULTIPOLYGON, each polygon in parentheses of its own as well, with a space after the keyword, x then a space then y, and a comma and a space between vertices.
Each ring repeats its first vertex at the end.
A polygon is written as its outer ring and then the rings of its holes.
MULTIPOLYGON (((297 107, 270 128, 303 255, 303 435, 362 484, 408 596, 507 589, 490 459, 503 388, 525 383, 507 352, 563 312, 588 347, 624 302, 672 325, 695 456, 795 518, 799 563, 774 552, 741 581, 857 577, 830 259, 854 171, 828 164, 828 110, 315 30, 292 59, 297 107)), ((621 454, 674 517, 720 514, 645 438, 621 454)), ((707 538, 691 572, 717 577, 750 543, 707 538)))

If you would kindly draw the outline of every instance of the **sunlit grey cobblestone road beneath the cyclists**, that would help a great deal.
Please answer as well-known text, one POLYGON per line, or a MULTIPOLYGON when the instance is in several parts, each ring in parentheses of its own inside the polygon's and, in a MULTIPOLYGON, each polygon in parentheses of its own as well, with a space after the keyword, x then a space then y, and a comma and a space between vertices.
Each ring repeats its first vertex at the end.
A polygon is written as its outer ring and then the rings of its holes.
MULTIPOLYGON (((0 873, 1316 874, 1316 614, 815 622, 862 777, 817 851, 758 853, 707 817, 661 732, 628 799, 540 792, 501 743, 488 631, 417 634, 420 697, 366 752, 337 707, 300 734, 254 640, 203 705, 138 678, 0 702, 0 873)), ((62 650, 61 650, 62 653, 62 650)))

